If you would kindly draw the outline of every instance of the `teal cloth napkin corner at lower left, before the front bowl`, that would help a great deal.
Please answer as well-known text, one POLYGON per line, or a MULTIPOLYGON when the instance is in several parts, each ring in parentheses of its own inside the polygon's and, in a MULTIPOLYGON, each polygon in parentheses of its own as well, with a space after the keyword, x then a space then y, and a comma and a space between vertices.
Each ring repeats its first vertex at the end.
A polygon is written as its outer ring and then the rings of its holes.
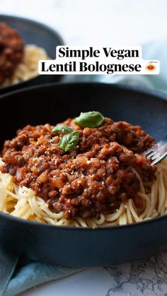
POLYGON ((14 296, 34 286, 64 278, 83 269, 18 258, 0 249, 0 295, 14 296))

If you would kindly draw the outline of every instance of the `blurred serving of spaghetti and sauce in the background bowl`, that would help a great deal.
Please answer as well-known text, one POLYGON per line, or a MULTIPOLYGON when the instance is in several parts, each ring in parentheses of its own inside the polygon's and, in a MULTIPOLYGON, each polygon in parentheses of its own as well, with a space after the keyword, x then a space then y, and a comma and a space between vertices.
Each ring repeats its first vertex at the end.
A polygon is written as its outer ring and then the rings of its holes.
POLYGON ((25 45, 18 30, 0 23, 0 87, 38 76, 40 59, 48 59, 45 49, 25 45))

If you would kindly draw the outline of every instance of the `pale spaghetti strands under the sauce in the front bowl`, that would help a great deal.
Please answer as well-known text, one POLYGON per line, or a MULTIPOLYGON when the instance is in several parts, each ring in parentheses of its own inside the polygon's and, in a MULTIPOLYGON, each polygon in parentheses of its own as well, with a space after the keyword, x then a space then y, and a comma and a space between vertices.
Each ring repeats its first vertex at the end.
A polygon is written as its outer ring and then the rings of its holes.
MULTIPOLYGON (((3 162, 1 161, 0 165, 3 162)), ((134 168, 129 168, 134 170, 134 168)), ((100 227, 113 225, 128 225, 156 218, 167 213, 167 159, 157 165, 156 181, 145 185, 137 174, 140 190, 137 194, 143 201, 143 208, 134 206, 134 201, 128 199, 120 204, 115 213, 100 214, 100 219, 80 218, 67 220, 64 212, 53 213, 48 204, 35 191, 27 187, 19 187, 13 183, 11 174, 0 172, 0 211, 25 220, 34 220, 51 225, 69 225, 76 227, 100 227)))

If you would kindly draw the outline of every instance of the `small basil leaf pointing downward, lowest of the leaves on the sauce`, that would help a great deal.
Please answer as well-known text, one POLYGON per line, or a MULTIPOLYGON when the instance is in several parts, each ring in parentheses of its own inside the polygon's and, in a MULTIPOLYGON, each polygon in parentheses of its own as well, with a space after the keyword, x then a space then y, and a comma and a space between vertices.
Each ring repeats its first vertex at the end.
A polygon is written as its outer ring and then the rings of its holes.
POLYGON ((67 134, 59 141, 59 148, 64 151, 71 151, 79 143, 79 131, 74 131, 71 134, 67 134))

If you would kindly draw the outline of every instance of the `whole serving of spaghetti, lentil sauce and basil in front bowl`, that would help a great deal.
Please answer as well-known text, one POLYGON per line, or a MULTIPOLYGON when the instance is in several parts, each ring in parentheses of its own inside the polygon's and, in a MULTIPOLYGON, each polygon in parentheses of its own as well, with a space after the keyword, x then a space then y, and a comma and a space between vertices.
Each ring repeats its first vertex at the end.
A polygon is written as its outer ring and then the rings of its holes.
POLYGON ((125 225, 167 213, 167 160, 151 165, 154 138, 100 112, 25 126, 5 141, 0 211, 52 225, 125 225))

